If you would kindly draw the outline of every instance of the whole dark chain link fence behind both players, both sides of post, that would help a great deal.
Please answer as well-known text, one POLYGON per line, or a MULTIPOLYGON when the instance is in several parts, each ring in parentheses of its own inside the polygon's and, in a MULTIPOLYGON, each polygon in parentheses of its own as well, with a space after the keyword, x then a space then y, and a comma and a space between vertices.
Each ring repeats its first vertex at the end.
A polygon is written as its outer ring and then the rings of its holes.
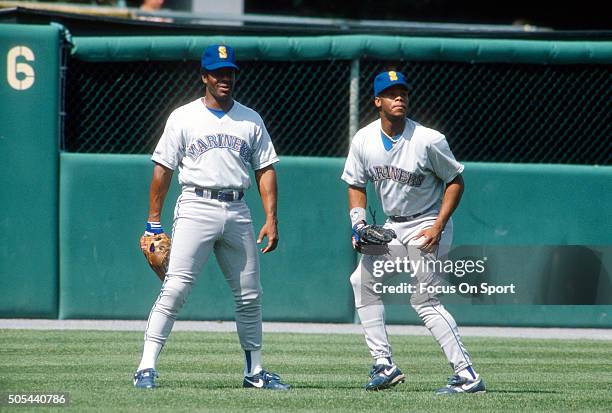
MULTIPOLYGON (((236 99, 264 119, 280 155, 345 156, 350 61, 241 62, 236 99)), ((374 76, 412 84, 409 116, 444 133, 461 161, 612 164, 612 67, 360 61, 359 126, 377 117, 374 76)), ((63 149, 151 153, 176 107, 200 97, 197 62, 70 59, 63 149)))

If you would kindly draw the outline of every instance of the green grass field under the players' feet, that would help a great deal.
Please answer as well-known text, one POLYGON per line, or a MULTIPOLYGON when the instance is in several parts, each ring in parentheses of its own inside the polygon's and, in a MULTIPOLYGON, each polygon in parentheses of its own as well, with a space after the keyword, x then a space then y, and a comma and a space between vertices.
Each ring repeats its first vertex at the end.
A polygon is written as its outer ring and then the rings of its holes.
MULTIPOLYGON (((450 369, 429 337, 392 337, 407 381, 366 393, 370 358, 360 335, 266 334, 265 367, 290 392, 242 389, 235 334, 172 334, 159 388, 132 387, 142 333, 0 330, 0 393, 68 392, 55 411, 408 412, 612 411, 612 342, 466 338, 486 394, 436 397, 450 369)), ((2 411, 41 407, 2 405, 2 411)))

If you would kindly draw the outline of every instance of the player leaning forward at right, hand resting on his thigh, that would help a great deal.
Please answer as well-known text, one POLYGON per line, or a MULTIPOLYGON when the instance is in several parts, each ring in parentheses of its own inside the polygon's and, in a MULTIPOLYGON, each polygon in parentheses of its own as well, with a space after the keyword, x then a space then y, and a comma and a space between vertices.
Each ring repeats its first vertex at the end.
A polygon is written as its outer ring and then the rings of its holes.
MULTIPOLYGON (((350 277, 355 306, 374 358, 366 390, 382 390, 404 381, 393 363, 387 337, 384 305, 366 300, 373 291, 372 268, 376 260, 408 257, 410 262, 439 259, 447 254, 452 241, 451 214, 463 192, 463 165, 457 162, 446 138, 406 117, 408 84, 402 73, 380 73, 374 80, 374 104, 380 119, 354 136, 342 174, 349 184, 350 218, 355 230, 366 225, 366 184, 372 181, 388 219, 384 227, 397 238, 383 256, 363 255, 350 277)), ((355 242, 355 240, 353 240, 355 242)), ((415 269, 418 285, 437 285, 435 266, 415 269)), ((454 370, 448 385, 437 394, 485 391, 484 381, 472 366, 472 359, 459 336, 457 323, 435 294, 417 290, 410 303, 442 347, 454 370)))

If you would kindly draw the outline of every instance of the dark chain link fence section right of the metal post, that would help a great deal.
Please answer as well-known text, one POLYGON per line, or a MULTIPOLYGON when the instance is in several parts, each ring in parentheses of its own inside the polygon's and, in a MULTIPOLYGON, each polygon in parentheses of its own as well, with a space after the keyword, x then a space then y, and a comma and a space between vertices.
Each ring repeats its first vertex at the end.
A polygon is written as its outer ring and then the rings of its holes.
POLYGON ((612 163, 612 68, 362 61, 360 126, 377 118, 376 74, 411 83, 409 114, 474 162, 612 163))

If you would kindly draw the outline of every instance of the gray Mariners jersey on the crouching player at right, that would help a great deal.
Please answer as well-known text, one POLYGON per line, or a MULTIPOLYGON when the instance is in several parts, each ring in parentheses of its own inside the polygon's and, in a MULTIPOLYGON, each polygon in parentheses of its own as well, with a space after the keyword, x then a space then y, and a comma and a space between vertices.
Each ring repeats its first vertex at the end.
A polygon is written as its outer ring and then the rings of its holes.
POLYGON ((342 179, 365 187, 374 183, 384 213, 411 216, 439 205, 445 183, 463 171, 441 133, 406 119, 406 127, 391 144, 380 119, 353 138, 342 179))

